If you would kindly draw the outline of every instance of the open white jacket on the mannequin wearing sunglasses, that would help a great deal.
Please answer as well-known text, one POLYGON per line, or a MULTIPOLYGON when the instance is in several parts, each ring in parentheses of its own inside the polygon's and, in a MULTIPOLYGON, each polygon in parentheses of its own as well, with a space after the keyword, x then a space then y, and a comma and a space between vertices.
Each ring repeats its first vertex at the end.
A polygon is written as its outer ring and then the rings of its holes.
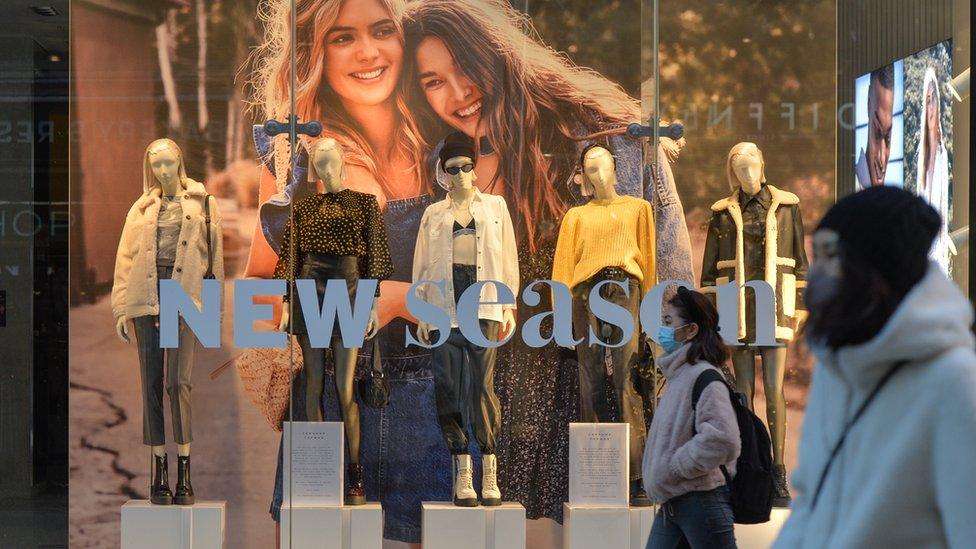
MULTIPOLYGON (((515 242, 515 229, 508 213, 505 199, 494 194, 486 194, 475 189, 471 201, 471 215, 474 217, 477 243, 478 282, 495 280, 509 287, 518 299, 519 267, 518 248, 515 242)), ((424 211, 417 233, 417 247, 413 254, 413 281, 444 281, 444 293, 433 284, 422 284, 417 288, 417 296, 431 305, 448 312, 451 327, 456 328, 457 312, 454 297, 454 212, 451 211, 451 197, 435 202, 424 211)), ((498 301, 494 284, 485 284, 481 289, 481 302, 498 301)), ((478 318, 501 322, 505 309, 510 305, 481 305, 478 318)))

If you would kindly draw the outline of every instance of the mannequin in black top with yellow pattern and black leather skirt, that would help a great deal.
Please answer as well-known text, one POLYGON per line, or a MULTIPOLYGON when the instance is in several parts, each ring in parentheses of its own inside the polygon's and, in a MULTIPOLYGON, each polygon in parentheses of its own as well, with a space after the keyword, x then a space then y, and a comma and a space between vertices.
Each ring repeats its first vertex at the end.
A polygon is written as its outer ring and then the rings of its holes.
MULTIPOLYGON (((330 279, 345 280, 350 303, 356 299, 360 278, 384 280, 393 272, 386 226, 376 197, 345 188, 345 163, 342 148, 332 138, 313 144, 309 152, 310 181, 317 193, 295 202, 282 240, 282 255, 275 267, 275 278, 294 281, 314 280, 316 308, 321 305, 330 279), (294 242, 294 250, 292 250, 294 242), (294 254, 295 264, 290 261, 294 254)), ((305 376, 305 419, 324 421, 322 393, 325 390, 325 349, 313 347, 298 300, 292 300, 292 285, 284 297, 279 329, 296 336, 302 350, 305 376)), ((366 325, 366 337, 379 330, 376 302, 379 285, 366 325)), ((359 405, 356 403, 355 374, 359 349, 342 344, 338 324, 333 329, 330 348, 335 364, 336 390, 346 435, 349 464, 346 468, 346 505, 366 503, 363 468, 359 463, 359 405)))

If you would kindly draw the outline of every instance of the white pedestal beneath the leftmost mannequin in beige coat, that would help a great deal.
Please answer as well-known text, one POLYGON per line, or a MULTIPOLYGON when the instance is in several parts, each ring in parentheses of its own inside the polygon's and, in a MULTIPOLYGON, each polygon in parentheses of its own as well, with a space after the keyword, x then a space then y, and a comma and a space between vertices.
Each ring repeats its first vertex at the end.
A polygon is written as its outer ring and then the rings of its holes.
POLYGON ((122 549, 221 549, 227 502, 153 505, 129 500, 122 505, 122 549))

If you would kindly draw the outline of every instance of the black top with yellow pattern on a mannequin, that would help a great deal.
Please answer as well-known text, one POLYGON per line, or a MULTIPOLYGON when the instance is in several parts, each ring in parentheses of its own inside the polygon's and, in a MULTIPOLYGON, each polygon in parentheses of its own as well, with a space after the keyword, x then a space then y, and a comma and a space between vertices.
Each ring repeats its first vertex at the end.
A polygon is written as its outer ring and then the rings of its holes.
MULTIPOLYGON (((362 278, 385 280, 393 273, 386 225, 376 197, 350 189, 337 193, 313 194, 295 202, 293 219, 285 226, 282 255, 274 277, 294 280, 301 271, 302 257, 308 252, 359 258, 362 278), (292 223, 297 227, 295 263, 289 266, 292 223)), ((377 286, 377 294, 379 286, 377 286)))

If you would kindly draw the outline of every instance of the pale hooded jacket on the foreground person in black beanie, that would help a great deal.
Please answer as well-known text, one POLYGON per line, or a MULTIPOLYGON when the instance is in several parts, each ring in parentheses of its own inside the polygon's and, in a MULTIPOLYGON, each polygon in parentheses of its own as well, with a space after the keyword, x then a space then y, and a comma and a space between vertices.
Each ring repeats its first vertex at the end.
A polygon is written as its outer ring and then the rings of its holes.
POLYGON ((886 549, 976 544, 976 353, 969 300, 935 263, 871 341, 818 364, 793 474, 798 497, 775 547, 886 549), (843 425, 816 508, 811 499, 843 425))

